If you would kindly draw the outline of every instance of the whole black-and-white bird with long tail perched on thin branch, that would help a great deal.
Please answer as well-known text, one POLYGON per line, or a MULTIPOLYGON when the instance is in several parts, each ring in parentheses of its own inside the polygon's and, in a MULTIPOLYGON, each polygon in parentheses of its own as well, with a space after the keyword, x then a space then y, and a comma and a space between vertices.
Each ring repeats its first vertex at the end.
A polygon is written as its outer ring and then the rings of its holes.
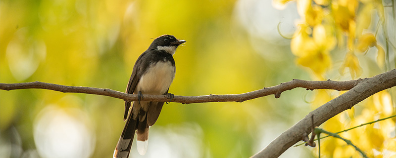
POLYGON ((186 40, 178 40, 172 35, 162 35, 152 41, 148 49, 136 60, 126 93, 138 94, 138 101, 125 101, 125 126, 115 147, 114 158, 129 158, 135 132, 140 155, 145 155, 148 147, 148 128, 157 120, 164 102, 144 101, 143 94, 167 94, 175 78, 173 54, 186 40))

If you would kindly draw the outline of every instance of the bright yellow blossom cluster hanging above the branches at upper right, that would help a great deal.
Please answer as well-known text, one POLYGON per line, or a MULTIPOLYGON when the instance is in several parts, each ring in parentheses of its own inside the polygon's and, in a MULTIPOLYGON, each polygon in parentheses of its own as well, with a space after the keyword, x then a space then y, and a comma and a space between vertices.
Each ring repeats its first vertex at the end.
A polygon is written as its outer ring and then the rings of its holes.
MULTIPOLYGON (((290 0, 275 0, 285 4, 290 0)), ((344 63, 339 68, 344 74, 346 68, 352 78, 359 77, 362 69, 357 53, 376 47, 377 64, 384 67, 385 52, 377 43, 375 35, 363 33, 371 24, 371 11, 376 9, 383 21, 381 0, 296 0, 301 19, 291 41, 291 49, 297 56, 297 64, 312 70, 315 77, 323 75, 332 66, 330 52, 347 47, 344 63), (345 44, 346 43, 346 44, 345 44)))

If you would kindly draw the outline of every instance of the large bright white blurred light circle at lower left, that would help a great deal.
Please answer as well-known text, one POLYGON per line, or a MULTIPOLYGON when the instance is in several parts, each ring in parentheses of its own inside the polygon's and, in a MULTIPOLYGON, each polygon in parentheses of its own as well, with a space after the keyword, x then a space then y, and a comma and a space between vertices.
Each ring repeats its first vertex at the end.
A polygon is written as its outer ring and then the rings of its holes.
POLYGON ((95 134, 89 117, 78 109, 48 106, 34 123, 34 139, 43 158, 89 158, 95 148, 95 134))

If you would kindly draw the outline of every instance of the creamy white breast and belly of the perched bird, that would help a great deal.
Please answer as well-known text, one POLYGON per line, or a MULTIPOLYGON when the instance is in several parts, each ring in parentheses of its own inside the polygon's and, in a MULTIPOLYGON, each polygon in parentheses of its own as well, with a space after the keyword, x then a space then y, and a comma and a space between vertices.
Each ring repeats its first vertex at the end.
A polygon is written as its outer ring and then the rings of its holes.
POLYGON ((175 77, 175 67, 170 61, 158 61, 149 66, 137 85, 143 94, 164 94, 175 77))

